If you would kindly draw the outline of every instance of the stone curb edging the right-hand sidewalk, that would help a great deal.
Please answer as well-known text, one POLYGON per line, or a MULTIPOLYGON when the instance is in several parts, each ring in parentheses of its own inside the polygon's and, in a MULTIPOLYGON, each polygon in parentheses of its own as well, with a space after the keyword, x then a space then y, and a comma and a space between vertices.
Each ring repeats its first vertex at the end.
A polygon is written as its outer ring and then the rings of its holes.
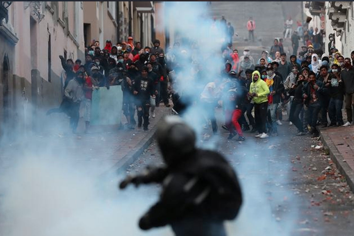
POLYGON ((325 135, 322 131, 320 131, 320 138, 322 143, 329 148, 330 157, 333 162, 336 163, 339 172, 346 177, 348 185, 352 191, 354 191, 354 171, 349 167, 347 162, 343 162, 344 158, 339 153, 336 145, 332 142, 329 136, 325 135))

